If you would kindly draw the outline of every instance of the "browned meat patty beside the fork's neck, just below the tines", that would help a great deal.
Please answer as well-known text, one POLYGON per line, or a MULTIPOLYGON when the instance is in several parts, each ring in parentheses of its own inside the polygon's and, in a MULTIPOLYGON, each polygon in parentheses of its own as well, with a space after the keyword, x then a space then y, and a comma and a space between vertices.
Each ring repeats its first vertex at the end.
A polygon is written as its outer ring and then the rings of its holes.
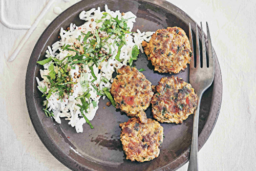
POLYGON ((154 91, 152 113, 159 122, 182 123, 197 108, 197 95, 182 78, 163 77, 154 91))

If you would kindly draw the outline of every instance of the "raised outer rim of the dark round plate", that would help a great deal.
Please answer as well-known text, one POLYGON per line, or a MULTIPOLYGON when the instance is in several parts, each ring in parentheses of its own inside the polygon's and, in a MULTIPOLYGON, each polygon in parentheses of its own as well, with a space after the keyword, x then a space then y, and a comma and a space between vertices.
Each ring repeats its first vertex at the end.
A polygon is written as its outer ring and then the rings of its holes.
MULTIPOLYGON (((27 104, 27 109, 28 109, 28 113, 29 113, 29 117, 31 119, 32 125, 35 129, 35 132, 37 133, 39 139, 41 140, 41 142, 46 146, 46 148, 48 149, 48 151, 57 159, 59 160, 63 165, 65 165, 66 167, 70 168, 70 169, 90 169, 88 166, 83 165, 79 162, 77 162, 76 160, 74 160, 73 158, 71 158, 69 155, 67 155, 65 152, 63 152, 59 146, 54 142, 54 140, 50 137, 50 135, 48 134, 47 130, 45 129, 45 126, 42 124, 42 121, 40 120, 38 113, 37 113, 37 109, 36 109, 36 105, 35 105, 35 98, 34 98, 34 87, 36 84, 35 81, 35 73, 36 73, 36 61, 38 60, 38 58, 40 57, 40 53, 41 53, 41 49, 39 50, 39 56, 37 56, 38 54, 38 50, 36 49, 36 47, 38 47, 39 45, 44 45, 42 44, 43 42, 41 41, 42 37, 47 34, 47 32, 49 32, 49 29, 51 29, 52 24, 54 22, 56 22, 59 18, 63 17, 66 12, 68 10, 71 10, 72 8, 75 8, 75 6, 81 4, 81 3, 95 3, 95 5, 99 4, 99 3, 104 3, 104 2, 111 2, 111 1, 115 1, 115 0, 100 0, 100 1, 96 1, 96 2, 90 2, 89 0, 84 0, 84 1, 80 1, 72 6, 70 6, 69 8, 67 8, 65 11, 63 11, 61 14, 59 14, 55 19, 53 19, 53 21, 48 25, 48 27, 44 30, 44 32, 41 33, 40 37, 38 38, 33 51, 31 53, 29 62, 28 62, 28 67, 27 67, 27 72, 26 72, 26 79, 25 79, 25 97, 26 97, 26 104, 27 104), (37 58, 35 58, 35 56, 37 56, 37 58), (33 73, 31 75, 31 73, 33 73), (31 79, 32 77, 32 79, 31 79), (33 97, 33 98, 32 98, 33 97), (77 164, 79 166, 77 166, 77 164)), ((123 0, 121 0, 123 1, 123 0)), ((121 2, 119 1, 119 2, 121 2)), ((147 3, 151 3, 154 4, 156 6, 159 6, 160 8, 163 8, 165 10, 167 10, 168 12, 174 13, 178 18, 180 18, 181 20, 184 20, 184 17, 188 17, 191 20, 191 24, 192 27, 195 28, 195 26, 199 27, 199 25, 188 15, 186 14, 183 10, 181 10, 179 7, 175 6, 172 3, 169 3, 167 1, 164 0, 156 0, 156 1, 150 1, 150 0, 129 0, 129 1, 136 1, 136 2, 147 2, 147 3), (175 8, 176 11, 170 11, 170 7, 172 6, 173 9, 175 8), (169 7, 169 9, 168 9, 169 7), (181 14, 181 15, 177 15, 177 14, 181 14), (193 26, 194 24, 194 26, 193 26)), ((86 6, 84 6, 83 8, 86 8, 86 6)), ((80 10, 80 9, 79 9, 80 10)), ((78 12, 79 13, 79 12, 78 12)), ((77 14, 77 13, 75 13, 77 14)), ((74 15, 74 14, 73 14, 74 15)), ((56 22, 58 24, 58 26, 60 26, 61 24, 65 23, 66 19, 63 19, 61 22, 56 22)), ((58 29, 58 27, 55 26, 55 30, 58 29)), ((54 30, 52 30, 54 31, 54 30)), ((51 32, 52 32, 51 31, 51 32)), ((51 35, 51 32, 49 32, 49 34, 51 35)), ((49 35, 49 36, 50 36, 49 35)), ((45 40, 46 42, 48 41, 45 40)), ((43 46, 43 47, 44 47, 43 46)), ((214 51, 214 55, 215 55, 215 61, 218 65, 218 69, 219 69, 219 75, 217 75, 219 77, 219 79, 221 80, 220 82, 214 82, 214 88, 216 86, 219 86, 219 88, 221 88, 219 90, 219 97, 215 97, 214 93, 215 93, 215 89, 213 90, 213 94, 212 97, 213 98, 217 98, 218 100, 218 104, 217 106, 215 106, 217 109, 210 109, 209 114, 212 113, 212 111, 214 111, 215 113, 214 118, 209 118, 209 116, 207 117, 207 120, 205 122, 205 125, 210 122, 210 126, 211 127, 207 127, 207 126, 203 126, 203 129, 198 137, 198 151, 202 148, 202 146, 205 144, 205 142, 208 140, 209 136, 212 133, 212 130, 215 127, 216 121, 218 119, 219 116, 219 112, 220 112, 220 107, 221 107, 221 102, 222 102, 222 76, 221 76, 221 70, 220 70, 220 65, 219 65, 219 61, 216 55, 216 52, 214 51), (216 85, 216 83, 218 83, 218 85, 216 85), (208 120, 210 119, 210 120, 208 120)), ((217 67, 216 67, 217 68, 217 67)), ((212 103, 214 103, 214 99, 211 100, 211 106, 212 103)), ((183 166, 187 161, 188 161, 188 156, 189 156, 189 151, 190 149, 188 148, 181 156, 179 156, 176 160, 174 160, 173 162, 161 167, 161 168, 168 168, 168 169, 178 169, 181 166, 183 166), (174 164, 175 163, 175 164, 174 164), (173 167, 173 164, 176 165, 176 167, 173 167)), ((161 169, 158 168, 158 169, 161 169)))

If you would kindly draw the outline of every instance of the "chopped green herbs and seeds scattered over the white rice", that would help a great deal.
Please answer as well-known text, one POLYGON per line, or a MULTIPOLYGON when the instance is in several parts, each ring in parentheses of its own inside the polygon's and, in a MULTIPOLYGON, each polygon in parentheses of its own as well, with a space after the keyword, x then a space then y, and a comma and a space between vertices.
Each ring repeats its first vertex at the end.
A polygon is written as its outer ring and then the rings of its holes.
MULTIPOLYGON (((116 107, 116 103, 109 89, 104 87, 105 84, 110 83, 110 80, 106 78, 106 75, 102 75, 102 71, 100 70, 99 74, 95 73, 94 67, 103 67, 105 63, 100 62, 108 60, 114 60, 115 62, 116 60, 120 62, 122 61, 120 59, 121 48, 126 45, 126 34, 132 33, 130 32, 130 28, 127 26, 127 20, 128 19, 124 19, 122 16, 119 19, 118 16, 113 17, 109 13, 104 12, 101 19, 95 19, 96 23, 102 24, 101 27, 96 26, 96 30, 87 32, 82 29, 80 30, 80 35, 75 37, 75 42, 69 41, 68 44, 61 44, 63 46, 60 47, 60 53, 65 51, 67 56, 63 57, 58 55, 50 55, 50 53, 47 51, 47 55, 50 57, 47 56, 49 58, 37 61, 39 65, 45 65, 46 63, 50 62, 47 68, 49 73, 44 75, 47 77, 46 81, 48 85, 45 87, 38 86, 38 89, 43 93, 42 96, 46 97, 46 99, 49 100, 52 98, 51 96, 56 97, 57 95, 57 100, 61 100, 62 102, 62 100, 64 101, 66 98, 69 99, 69 96, 76 95, 76 88, 78 87, 79 89, 79 85, 81 86, 81 91, 83 94, 79 94, 75 97, 75 100, 79 101, 79 103, 76 103, 76 105, 80 108, 79 110, 81 113, 78 117, 83 117, 90 125, 91 129, 94 127, 86 115, 87 113, 90 113, 90 106, 96 108, 98 103, 97 100, 92 99, 92 92, 97 93, 98 96, 105 95, 109 98, 112 105, 116 107), (106 16, 108 15, 110 18, 106 19, 106 16), (112 41, 109 41, 110 39, 112 41), (116 47, 118 47, 117 52, 117 49, 115 49, 116 47), (70 51, 75 52, 75 55, 70 51), (78 68, 79 73, 77 71, 78 68), (91 72, 88 71, 88 68, 91 70, 91 72), (100 77, 100 82, 97 81, 99 79, 96 75, 100 77)), ((137 45, 135 45, 132 49, 132 56, 129 61, 130 66, 132 65, 133 61, 137 59, 138 54, 139 49, 137 45)), ((107 65, 110 65, 110 62, 108 62, 107 65)), ((116 65, 116 63, 114 65, 116 65)), ((145 71, 145 69, 140 69, 139 71, 145 71)), ((54 114, 52 111, 47 110, 48 100, 46 100, 46 109, 43 110, 46 116, 50 117, 54 116, 54 114)))

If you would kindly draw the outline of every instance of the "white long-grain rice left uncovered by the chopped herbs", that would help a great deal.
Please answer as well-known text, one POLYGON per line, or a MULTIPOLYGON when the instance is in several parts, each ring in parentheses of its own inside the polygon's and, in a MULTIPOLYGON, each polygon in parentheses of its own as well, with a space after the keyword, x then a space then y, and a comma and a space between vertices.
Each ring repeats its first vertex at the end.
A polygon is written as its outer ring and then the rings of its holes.
MULTIPOLYGON (((102 23, 96 23, 96 22, 91 22, 91 19, 93 18, 94 20, 96 19, 101 19, 103 16, 104 11, 100 11, 100 8, 98 9, 91 9, 89 11, 82 11, 79 14, 79 18, 82 20, 85 20, 86 23, 84 23, 81 26, 75 26, 75 24, 70 24, 70 30, 66 31, 63 28, 60 29, 60 40, 56 41, 52 47, 48 47, 48 50, 46 51, 46 57, 49 58, 50 56, 56 57, 59 60, 62 60, 65 58, 68 54, 70 55, 75 55, 76 53, 73 51, 68 51, 68 50, 62 50, 61 47, 64 45, 70 45, 71 49, 74 48, 74 42, 77 44, 81 43, 83 40, 84 35, 81 34, 81 31, 84 32, 85 34, 88 31, 94 31, 95 32, 95 27, 101 27, 102 23), (92 24, 93 27, 89 27, 89 25, 92 24), (80 42, 77 42, 76 38, 80 38, 80 42), (59 53, 57 53, 59 51, 59 53)), ((108 12, 110 15, 113 17, 118 16, 118 19, 121 19, 121 13, 120 11, 111 11, 108 9, 108 6, 105 5, 105 12, 108 12)), ((129 19, 127 21, 127 27, 130 27, 130 31, 133 28, 133 24, 135 23, 136 16, 132 12, 126 12, 125 15, 123 16, 124 19, 129 19)), ((110 16, 107 15, 104 19, 110 19, 110 16)), ((63 99, 59 98, 57 93, 53 93, 48 101, 48 111, 52 111, 54 114, 54 119, 57 123, 61 123, 60 118, 63 117, 66 120, 69 120, 69 124, 72 127, 75 127, 77 133, 82 133, 83 132, 83 127, 82 125, 86 123, 86 120, 82 117, 81 112, 80 112, 80 107, 77 105, 82 105, 81 100, 77 97, 82 95, 86 90, 91 89, 90 94, 91 94, 91 100, 94 100, 97 103, 97 106, 93 106, 92 103, 90 103, 88 113, 84 113, 86 117, 89 120, 92 120, 96 114, 96 111, 98 109, 98 103, 99 99, 101 96, 97 95, 97 91, 93 88, 93 85, 99 84, 99 89, 102 90, 103 88, 111 88, 111 82, 113 82, 112 74, 115 70, 118 70, 121 68, 123 65, 126 65, 126 63, 130 60, 132 56, 132 49, 134 45, 137 45, 138 49, 141 50, 143 53, 143 49, 141 46, 141 43, 143 40, 149 41, 151 38, 151 35, 153 32, 143 32, 141 33, 139 30, 137 30, 137 33, 132 33, 126 34, 125 39, 126 39, 126 45, 124 45, 121 48, 121 53, 120 53, 120 59, 121 61, 118 61, 115 59, 115 56, 118 51, 118 47, 113 44, 111 45, 112 49, 112 57, 109 58, 108 61, 103 61, 99 63, 99 66, 101 66, 101 72, 98 73, 99 69, 95 65, 93 65, 93 71, 95 73, 95 76, 97 77, 97 80, 95 80, 93 83, 91 81, 94 79, 91 73, 91 70, 89 69, 89 66, 92 66, 92 63, 88 63, 88 65, 84 66, 84 70, 87 71, 86 74, 83 74, 79 79, 78 83, 75 84, 73 87, 74 93, 69 96, 65 95, 63 99), (114 53, 113 53, 114 52, 114 53), (113 65, 110 65, 110 64, 113 65), (102 78, 108 79, 110 82, 103 82, 101 81, 102 78), (84 81, 89 83, 89 88, 84 88, 82 84, 84 81)), ((114 42, 114 39, 108 39, 109 44, 114 42)), ((108 48, 108 46, 106 46, 108 48)), ((109 49, 106 50, 108 52, 109 49)), ((109 53, 109 52, 108 52, 109 53)), ((65 62, 66 59, 63 61, 65 62)), ((52 61, 49 63, 46 63, 44 65, 44 70, 40 70, 40 75, 42 80, 40 81, 36 77, 36 81, 38 83, 38 89, 44 88, 45 86, 47 87, 47 93, 50 90, 50 81, 48 78, 44 75, 49 75, 49 66, 51 65, 52 61)), ((71 69, 70 73, 71 76, 74 77, 74 73, 78 73, 79 71, 79 66, 76 65, 75 69, 71 69)), ((73 81, 76 81, 76 79, 73 79, 73 81)), ((105 96, 102 97, 103 99, 105 96)), ((44 104, 46 104, 46 101, 44 101, 44 104)))

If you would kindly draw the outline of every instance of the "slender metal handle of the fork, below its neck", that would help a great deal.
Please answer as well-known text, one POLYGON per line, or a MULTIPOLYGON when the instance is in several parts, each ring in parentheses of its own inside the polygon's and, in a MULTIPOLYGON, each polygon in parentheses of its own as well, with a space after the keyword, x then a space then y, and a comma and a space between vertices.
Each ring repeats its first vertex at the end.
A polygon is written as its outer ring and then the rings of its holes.
POLYGON ((192 141, 191 141, 191 149, 190 149, 190 156, 189 156, 189 164, 188 164, 188 171, 197 171, 198 170, 198 123, 199 123, 199 109, 200 109, 200 102, 202 98, 202 93, 198 94, 198 106, 194 114, 194 122, 193 122, 193 134, 192 134, 192 141))

